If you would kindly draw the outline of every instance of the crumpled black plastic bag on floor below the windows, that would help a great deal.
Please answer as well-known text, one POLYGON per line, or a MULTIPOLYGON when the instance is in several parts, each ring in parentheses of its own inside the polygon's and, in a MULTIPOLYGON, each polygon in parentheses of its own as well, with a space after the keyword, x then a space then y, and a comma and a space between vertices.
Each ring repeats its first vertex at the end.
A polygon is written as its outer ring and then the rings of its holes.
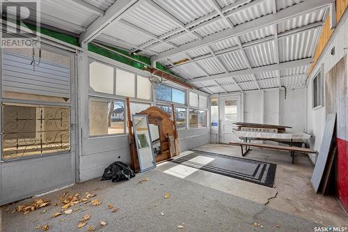
POLYGON ((120 180, 129 180, 134 176, 134 171, 130 169, 127 164, 116 161, 104 169, 102 180, 112 180, 112 182, 118 182, 120 180))

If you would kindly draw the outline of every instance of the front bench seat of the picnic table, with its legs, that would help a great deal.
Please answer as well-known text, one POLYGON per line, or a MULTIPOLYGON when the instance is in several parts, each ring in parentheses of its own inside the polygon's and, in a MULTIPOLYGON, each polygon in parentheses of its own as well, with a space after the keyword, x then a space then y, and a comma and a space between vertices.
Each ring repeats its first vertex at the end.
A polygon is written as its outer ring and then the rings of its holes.
POLYGON ((256 148, 265 148, 265 149, 271 149, 271 150, 286 150, 290 151, 290 156, 292 157, 292 164, 294 164, 294 154, 295 153, 317 153, 316 150, 312 150, 309 148, 299 148, 296 146, 280 146, 280 145, 271 145, 271 144, 253 144, 253 143, 246 143, 246 142, 237 142, 237 141, 232 141, 230 142, 231 145, 235 146, 241 146, 242 148, 242 156, 244 156, 250 147, 256 147, 256 148), (246 152, 244 153, 243 151, 243 146, 246 147, 246 152))

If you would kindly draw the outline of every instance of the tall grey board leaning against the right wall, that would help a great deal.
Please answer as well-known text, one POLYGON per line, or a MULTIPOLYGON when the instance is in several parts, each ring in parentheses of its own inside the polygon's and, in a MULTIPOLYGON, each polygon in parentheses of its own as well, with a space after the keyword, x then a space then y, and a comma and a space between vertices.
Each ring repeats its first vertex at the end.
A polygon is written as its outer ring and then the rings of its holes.
POLYGON ((329 151, 333 139, 333 130, 335 130, 336 114, 328 114, 326 118, 326 125, 323 134, 322 144, 320 146, 317 162, 312 174, 312 185, 315 192, 318 192, 320 182, 326 166, 326 161, 329 156, 329 151))

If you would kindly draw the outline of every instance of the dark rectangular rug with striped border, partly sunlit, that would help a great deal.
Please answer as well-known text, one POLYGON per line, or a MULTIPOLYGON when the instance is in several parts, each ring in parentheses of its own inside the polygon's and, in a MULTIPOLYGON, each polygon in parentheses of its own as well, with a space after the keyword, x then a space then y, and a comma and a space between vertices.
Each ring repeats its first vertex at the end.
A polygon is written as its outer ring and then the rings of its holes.
POLYGON ((245 180, 258 185, 274 187, 276 164, 249 160, 242 157, 189 150, 188 155, 171 160, 176 164, 218 173, 223 176, 245 180))

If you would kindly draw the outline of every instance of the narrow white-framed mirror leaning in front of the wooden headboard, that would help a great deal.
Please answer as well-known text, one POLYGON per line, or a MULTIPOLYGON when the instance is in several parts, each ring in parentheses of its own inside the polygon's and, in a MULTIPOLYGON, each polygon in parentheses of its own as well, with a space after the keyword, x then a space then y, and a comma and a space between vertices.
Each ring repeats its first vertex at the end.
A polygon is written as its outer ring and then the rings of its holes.
POLYGON ((141 172, 148 171, 156 167, 148 116, 133 114, 132 121, 134 125, 134 137, 136 140, 136 150, 139 157, 140 170, 141 172))

